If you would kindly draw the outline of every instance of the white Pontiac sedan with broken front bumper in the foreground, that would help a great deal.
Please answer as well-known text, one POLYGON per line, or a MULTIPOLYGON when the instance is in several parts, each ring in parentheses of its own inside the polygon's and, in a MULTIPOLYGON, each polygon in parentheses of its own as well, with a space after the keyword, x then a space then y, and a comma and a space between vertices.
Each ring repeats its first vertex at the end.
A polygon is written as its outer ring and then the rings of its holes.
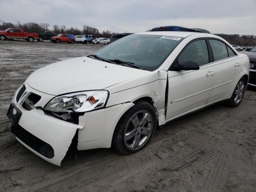
POLYGON ((58 166, 71 142, 134 154, 156 126, 224 100, 238 106, 249 66, 248 56, 212 34, 132 34, 33 72, 7 115, 16 139, 58 166))

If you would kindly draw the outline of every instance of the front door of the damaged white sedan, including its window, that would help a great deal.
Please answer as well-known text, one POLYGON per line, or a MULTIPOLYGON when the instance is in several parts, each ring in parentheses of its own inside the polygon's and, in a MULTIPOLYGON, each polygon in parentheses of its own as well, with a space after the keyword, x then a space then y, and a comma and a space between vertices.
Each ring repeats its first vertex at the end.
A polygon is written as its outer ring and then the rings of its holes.
POLYGON ((214 83, 212 57, 205 39, 190 42, 179 54, 174 64, 192 60, 199 70, 168 71, 168 103, 166 121, 204 106, 214 83))

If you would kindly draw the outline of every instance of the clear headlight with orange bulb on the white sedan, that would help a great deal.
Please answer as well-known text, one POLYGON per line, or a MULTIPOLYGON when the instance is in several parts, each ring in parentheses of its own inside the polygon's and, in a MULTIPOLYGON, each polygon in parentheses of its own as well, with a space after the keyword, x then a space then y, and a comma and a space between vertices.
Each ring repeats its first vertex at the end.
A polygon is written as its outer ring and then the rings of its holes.
POLYGON ((95 90, 64 94, 53 98, 44 107, 52 112, 86 112, 103 108, 108 99, 108 91, 95 90))

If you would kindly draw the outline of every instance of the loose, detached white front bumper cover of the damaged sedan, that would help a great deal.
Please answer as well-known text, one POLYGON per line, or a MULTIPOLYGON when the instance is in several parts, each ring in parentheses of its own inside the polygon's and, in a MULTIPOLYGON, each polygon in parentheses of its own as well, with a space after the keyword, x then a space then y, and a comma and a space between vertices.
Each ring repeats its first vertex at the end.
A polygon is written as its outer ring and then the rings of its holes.
POLYGON ((17 101, 19 90, 14 95, 7 113, 12 122, 12 132, 16 139, 30 151, 44 160, 60 166, 76 131, 84 126, 59 120, 45 114, 41 109, 25 110, 22 107, 23 98, 26 98, 26 95, 30 92, 44 95, 44 98, 47 98, 46 100, 52 96, 46 96, 47 94, 42 92, 39 93, 26 84, 26 91, 17 101))

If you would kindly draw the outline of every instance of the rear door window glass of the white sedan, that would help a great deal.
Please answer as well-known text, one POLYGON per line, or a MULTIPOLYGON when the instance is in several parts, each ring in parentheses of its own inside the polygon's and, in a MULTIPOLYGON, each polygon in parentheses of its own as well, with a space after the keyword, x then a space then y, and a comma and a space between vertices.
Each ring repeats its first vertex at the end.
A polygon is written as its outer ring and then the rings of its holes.
POLYGON ((214 61, 228 58, 228 51, 226 44, 219 40, 209 39, 210 45, 212 47, 212 54, 214 61))

